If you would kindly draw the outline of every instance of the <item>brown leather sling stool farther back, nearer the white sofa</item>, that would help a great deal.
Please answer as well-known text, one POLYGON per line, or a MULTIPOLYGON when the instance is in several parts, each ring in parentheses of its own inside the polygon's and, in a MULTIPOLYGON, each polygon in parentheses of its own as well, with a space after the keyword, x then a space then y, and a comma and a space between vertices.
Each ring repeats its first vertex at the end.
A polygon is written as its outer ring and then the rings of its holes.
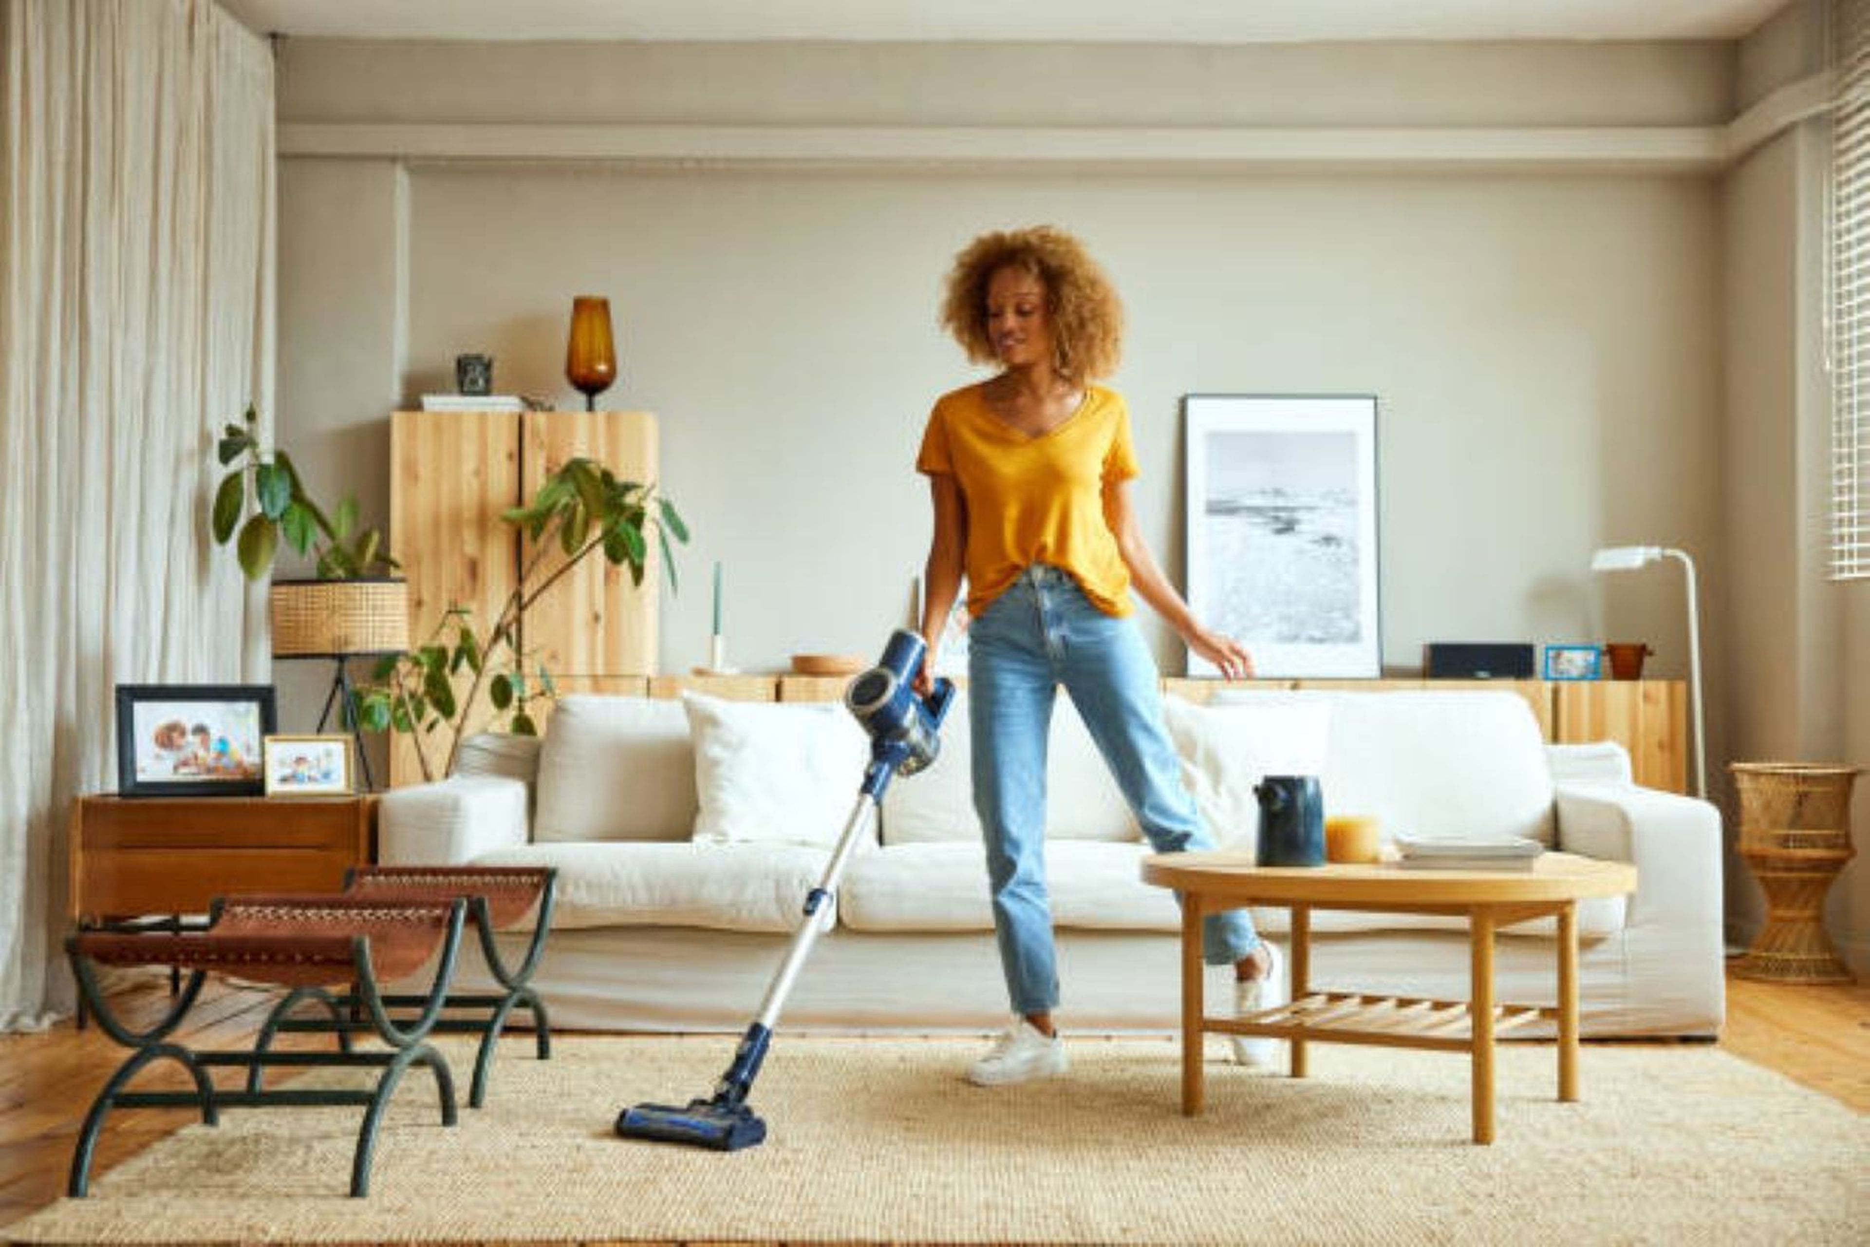
MULTIPOLYGON (((468 1105, 481 1109, 486 1103, 486 1079, 494 1064, 494 1047, 507 1026, 507 1017, 516 1010, 531 1010, 535 1051, 539 1060, 552 1058, 552 1026, 546 1017, 546 1004, 527 983, 539 968, 539 959, 546 948, 546 933, 552 927, 552 901, 557 892, 555 869, 503 867, 503 866, 363 866, 344 877, 344 896, 380 905, 434 905, 464 901, 468 918, 481 939, 481 955, 488 972, 503 991, 488 995, 449 993, 443 1002, 443 1017, 434 1023, 434 1030, 443 1034, 479 1034, 481 1051, 473 1064, 473 1082, 468 1088, 468 1105), (509 968, 494 944, 496 931, 520 925, 520 920, 533 914, 531 942, 516 968, 509 968), (449 1013, 471 1011, 481 1017, 449 1017, 449 1013)), ((426 996, 385 995, 380 1000, 389 1008, 424 1008, 426 996)), ((359 1028, 361 1002, 344 995, 335 998, 337 1006, 350 1015, 344 1017, 286 1017, 284 1002, 273 1010, 262 1026, 258 1047, 271 1045, 273 1036, 282 1030, 292 1032, 337 1032, 359 1028)), ((258 1079, 258 1069, 254 1071, 258 1079)))

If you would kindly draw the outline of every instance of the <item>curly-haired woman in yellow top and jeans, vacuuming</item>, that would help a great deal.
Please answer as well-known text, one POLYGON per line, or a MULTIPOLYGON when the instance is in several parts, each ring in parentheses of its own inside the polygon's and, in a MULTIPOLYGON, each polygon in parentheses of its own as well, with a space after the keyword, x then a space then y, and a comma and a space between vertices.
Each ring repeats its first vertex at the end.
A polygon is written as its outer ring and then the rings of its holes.
MULTIPOLYGON (((916 471, 929 477, 922 636, 928 671, 967 576, 974 808, 985 828, 993 925, 1014 1025, 969 1069, 980 1084, 1064 1073, 1053 1028, 1058 974, 1045 896, 1045 740, 1064 684, 1137 823, 1159 853, 1210 849, 1163 727, 1156 664, 1135 589, 1223 675, 1251 675, 1238 641, 1204 628, 1143 544, 1131 509, 1137 462, 1116 368, 1122 307, 1083 245, 1038 226, 974 239, 948 275, 942 323, 974 363, 1000 372, 942 394, 916 471)), ((1210 965, 1234 965, 1236 1011, 1270 1008, 1279 953, 1245 910, 1206 922, 1210 965)), ((1234 1039, 1264 1064, 1266 1039, 1234 1039)))

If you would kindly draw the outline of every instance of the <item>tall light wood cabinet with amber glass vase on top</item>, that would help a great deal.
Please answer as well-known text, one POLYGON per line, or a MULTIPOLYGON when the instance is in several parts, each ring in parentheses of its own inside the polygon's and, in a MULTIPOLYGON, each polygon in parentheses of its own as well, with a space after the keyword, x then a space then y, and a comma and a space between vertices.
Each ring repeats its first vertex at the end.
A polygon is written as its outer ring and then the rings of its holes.
MULTIPOLYGON (((531 583, 552 574, 565 555, 535 552, 501 514, 531 501, 548 475, 580 454, 626 480, 654 480, 656 421, 647 411, 395 413, 389 537, 410 581, 411 643, 426 643, 451 606, 469 608, 477 630, 490 626, 535 557, 540 568, 531 583)), ((520 619, 527 669, 544 664, 565 692, 634 688, 621 677, 654 675, 660 578, 654 542, 641 585, 600 555, 585 559, 520 619)), ((466 673, 456 686, 466 692, 466 673)), ((432 767, 439 768, 451 744, 447 727, 424 737, 432 767)), ((391 783, 421 778, 415 744, 396 735, 391 783)))

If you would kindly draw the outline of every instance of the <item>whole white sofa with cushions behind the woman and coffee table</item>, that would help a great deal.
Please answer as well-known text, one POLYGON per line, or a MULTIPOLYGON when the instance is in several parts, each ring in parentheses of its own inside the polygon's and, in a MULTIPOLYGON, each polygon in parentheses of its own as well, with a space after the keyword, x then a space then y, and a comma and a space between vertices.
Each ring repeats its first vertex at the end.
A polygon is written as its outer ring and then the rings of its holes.
MULTIPOLYGON (((1331 811, 1386 834, 1522 834, 1634 862, 1634 896, 1580 907, 1586 1036, 1713 1036, 1724 1008, 1720 819, 1631 783, 1618 746, 1545 746, 1511 692, 1217 690, 1165 699, 1184 772, 1230 849, 1251 853, 1262 772, 1322 776, 1331 811)), ((387 793, 380 860, 559 867, 539 985, 555 1025, 739 1030, 759 1006, 856 798, 866 742, 838 703, 567 697, 537 742, 481 737, 454 776, 387 793)), ((1178 914, 1139 879, 1148 853, 1060 695, 1049 757, 1047 873, 1060 1023, 1172 1030, 1178 914)), ((1281 939, 1285 910, 1255 914, 1281 939)), ((1453 918, 1318 912, 1313 983, 1466 993, 1453 918)), ((1507 929, 1500 998, 1550 1002, 1554 924, 1507 929)), ((468 980, 479 976, 466 965, 468 980)), ((1225 970, 1216 970, 1221 987, 1225 970)), ((892 783, 843 879, 836 927, 787 1004, 802 1030, 1004 1025, 965 703, 941 761, 892 783)))

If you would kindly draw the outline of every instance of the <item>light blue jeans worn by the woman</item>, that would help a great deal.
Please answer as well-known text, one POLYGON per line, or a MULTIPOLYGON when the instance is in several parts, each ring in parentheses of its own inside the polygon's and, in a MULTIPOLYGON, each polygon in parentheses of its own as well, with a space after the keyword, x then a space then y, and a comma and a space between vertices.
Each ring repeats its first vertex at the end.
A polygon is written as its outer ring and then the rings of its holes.
MULTIPOLYGON (((969 630, 974 810, 987 838, 993 929, 1015 1013, 1058 1004, 1045 894, 1045 742, 1064 684, 1143 834, 1158 853, 1212 849, 1163 725, 1156 662, 1133 619, 1105 615, 1068 572, 1036 563, 969 630)), ((1210 914, 1202 955, 1240 961, 1259 946, 1242 909, 1210 914)))

